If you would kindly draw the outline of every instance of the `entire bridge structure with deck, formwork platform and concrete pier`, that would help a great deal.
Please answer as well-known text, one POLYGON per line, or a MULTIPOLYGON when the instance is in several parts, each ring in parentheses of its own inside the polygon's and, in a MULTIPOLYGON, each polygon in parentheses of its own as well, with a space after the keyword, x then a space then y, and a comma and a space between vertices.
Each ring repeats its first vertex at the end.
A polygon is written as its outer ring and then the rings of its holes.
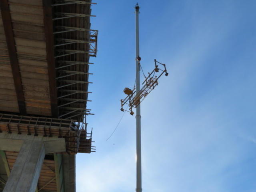
POLYGON ((75 154, 94 152, 92 4, 0 0, 0 192, 76 191, 75 154))

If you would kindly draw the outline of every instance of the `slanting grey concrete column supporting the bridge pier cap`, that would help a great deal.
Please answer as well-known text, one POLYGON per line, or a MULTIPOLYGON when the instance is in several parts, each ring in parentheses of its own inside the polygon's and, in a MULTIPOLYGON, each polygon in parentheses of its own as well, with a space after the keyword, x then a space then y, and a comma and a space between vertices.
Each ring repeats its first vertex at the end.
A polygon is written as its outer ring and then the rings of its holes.
POLYGON ((45 156, 42 136, 24 140, 3 192, 35 192, 45 156))

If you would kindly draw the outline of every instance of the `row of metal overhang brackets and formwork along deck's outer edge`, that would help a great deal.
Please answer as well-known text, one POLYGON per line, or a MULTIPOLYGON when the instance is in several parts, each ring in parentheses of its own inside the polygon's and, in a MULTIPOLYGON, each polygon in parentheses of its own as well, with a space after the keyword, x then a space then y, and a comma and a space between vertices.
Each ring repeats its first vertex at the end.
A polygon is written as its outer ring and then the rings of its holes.
POLYGON ((54 0, 54 50, 59 118, 86 123, 89 58, 96 57, 98 30, 90 29, 91 1, 54 0))

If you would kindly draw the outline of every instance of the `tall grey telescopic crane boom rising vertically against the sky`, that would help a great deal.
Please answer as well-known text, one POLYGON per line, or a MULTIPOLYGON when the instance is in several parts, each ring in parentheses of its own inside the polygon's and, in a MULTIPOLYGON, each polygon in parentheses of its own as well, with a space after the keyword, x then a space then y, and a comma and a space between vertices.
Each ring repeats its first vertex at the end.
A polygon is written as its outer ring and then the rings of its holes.
MULTIPOLYGON (((135 6, 135 20, 136 20, 136 94, 140 91, 140 65, 139 65, 139 11, 138 3, 135 6)), ((136 108, 136 192, 142 192, 141 182, 141 130, 140 130, 140 104, 136 108)))

